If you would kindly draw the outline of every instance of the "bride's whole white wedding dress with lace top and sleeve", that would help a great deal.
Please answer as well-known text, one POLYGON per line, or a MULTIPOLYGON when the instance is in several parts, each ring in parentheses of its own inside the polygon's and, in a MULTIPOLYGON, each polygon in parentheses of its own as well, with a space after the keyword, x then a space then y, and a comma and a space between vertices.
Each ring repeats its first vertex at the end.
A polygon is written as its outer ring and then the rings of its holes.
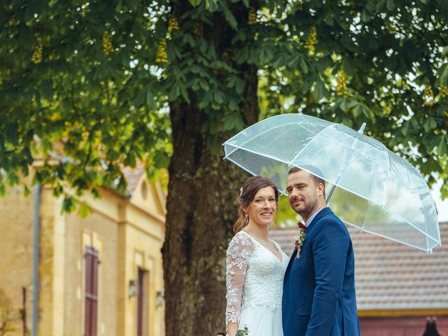
POLYGON ((247 326, 249 336, 283 336, 281 296, 288 255, 281 260, 244 230, 232 238, 227 250, 227 308, 225 323, 247 326))

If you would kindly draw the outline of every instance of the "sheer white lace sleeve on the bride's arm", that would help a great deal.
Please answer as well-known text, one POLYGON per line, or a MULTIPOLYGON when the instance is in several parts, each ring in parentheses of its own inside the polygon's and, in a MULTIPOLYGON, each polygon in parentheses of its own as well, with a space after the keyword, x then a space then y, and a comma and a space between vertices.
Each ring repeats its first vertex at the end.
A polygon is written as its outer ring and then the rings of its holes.
POLYGON ((240 233, 233 237, 227 250, 226 285, 227 308, 225 309, 225 324, 239 323, 241 311, 244 278, 248 266, 247 260, 253 251, 251 239, 240 233))

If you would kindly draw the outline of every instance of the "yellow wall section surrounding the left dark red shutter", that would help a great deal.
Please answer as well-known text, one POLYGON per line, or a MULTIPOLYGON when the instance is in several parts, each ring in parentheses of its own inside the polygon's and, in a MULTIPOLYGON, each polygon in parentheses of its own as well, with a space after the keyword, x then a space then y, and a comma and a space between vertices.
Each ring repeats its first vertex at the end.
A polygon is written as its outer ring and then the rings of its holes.
POLYGON ((97 211, 85 219, 70 214, 65 241, 65 335, 83 334, 85 246, 99 252, 98 335, 118 335, 118 224, 97 211))

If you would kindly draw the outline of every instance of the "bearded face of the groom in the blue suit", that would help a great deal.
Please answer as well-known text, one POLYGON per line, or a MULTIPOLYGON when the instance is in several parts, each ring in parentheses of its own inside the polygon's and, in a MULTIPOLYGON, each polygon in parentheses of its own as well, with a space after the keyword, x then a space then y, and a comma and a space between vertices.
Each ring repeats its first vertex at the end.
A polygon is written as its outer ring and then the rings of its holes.
POLYGON ((309 217, 318 207, 319 186, 308 172, 301 170, 289 174, 286 191, 290 206, 303 218, 309 217))

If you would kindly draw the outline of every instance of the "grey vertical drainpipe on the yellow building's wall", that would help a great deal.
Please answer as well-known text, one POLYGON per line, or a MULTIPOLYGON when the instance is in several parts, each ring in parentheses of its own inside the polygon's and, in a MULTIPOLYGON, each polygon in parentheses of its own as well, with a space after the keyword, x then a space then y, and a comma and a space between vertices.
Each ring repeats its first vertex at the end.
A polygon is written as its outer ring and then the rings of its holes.
POLYGON ((33 255, 33 326, 31 335, 37 335, 39 291, 39 236, 41 216, 41 184, 34 186, 34 255, 33 255))

